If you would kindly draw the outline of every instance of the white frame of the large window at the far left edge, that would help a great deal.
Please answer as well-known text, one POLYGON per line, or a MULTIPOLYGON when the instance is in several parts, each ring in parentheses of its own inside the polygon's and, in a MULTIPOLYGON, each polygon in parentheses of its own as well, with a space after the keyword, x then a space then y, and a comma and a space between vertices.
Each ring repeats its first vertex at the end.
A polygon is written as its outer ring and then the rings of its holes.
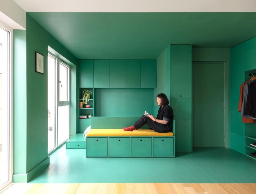
POLYGON ((8 101, 9 101, 9 180, 0 186, 0 191, 7 188, 13 182, 13 29, 0 21, 0 26, 9 31, 9 67, 7 68, 7 81, 9 85, 8 101))

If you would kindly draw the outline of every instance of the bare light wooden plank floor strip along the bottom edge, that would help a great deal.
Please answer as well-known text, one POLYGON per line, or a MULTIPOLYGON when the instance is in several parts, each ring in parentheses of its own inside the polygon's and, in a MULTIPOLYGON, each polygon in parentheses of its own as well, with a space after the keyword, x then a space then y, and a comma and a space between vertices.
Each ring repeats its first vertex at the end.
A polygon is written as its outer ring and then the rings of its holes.
POLYGON ((4 192, 14 193, 256 193, 256 183, 15 183, 4 192))

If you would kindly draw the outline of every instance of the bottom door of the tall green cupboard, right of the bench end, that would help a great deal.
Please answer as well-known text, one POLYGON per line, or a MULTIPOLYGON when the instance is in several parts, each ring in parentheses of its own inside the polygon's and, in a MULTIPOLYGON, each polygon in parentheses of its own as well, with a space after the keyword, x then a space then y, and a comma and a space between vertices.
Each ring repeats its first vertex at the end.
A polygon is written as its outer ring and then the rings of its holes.
POLYGON ((192 151, 191 120, 175 120, 175 152, 192 151))

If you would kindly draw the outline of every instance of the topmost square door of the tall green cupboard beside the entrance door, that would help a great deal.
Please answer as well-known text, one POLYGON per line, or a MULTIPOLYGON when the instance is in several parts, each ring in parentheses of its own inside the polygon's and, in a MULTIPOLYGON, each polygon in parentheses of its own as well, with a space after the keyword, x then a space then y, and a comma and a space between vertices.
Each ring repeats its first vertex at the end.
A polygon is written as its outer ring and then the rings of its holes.
POLYGON ((192 45, 171 45, 171 65, 191 65, 192 45))

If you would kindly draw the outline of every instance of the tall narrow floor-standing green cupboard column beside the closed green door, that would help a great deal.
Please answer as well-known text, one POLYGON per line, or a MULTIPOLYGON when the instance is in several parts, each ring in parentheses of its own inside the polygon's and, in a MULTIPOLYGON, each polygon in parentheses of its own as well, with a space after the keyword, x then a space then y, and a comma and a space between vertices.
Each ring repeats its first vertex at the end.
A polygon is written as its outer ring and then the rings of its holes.
POLYGON ((168 48, 170 105, 177 129, 175 151, 192 152, 192 45, 170 45, 168 48))

